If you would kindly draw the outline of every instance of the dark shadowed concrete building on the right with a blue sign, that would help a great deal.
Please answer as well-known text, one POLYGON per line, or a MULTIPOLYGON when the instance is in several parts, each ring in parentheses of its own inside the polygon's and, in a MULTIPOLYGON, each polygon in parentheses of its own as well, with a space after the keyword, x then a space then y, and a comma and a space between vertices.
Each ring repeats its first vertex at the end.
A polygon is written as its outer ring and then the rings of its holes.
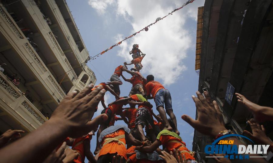
MULTIPOLYGON (((236 134, 251 131, 246 122, 252 114, 238 104, 234 93, 273 107, 272 0, 206 0, 202 19, 198 21, 203 22, 201 54, 196 52, 200 54, 198 90, 207 90, 217 101, 228 129, 236 134)), ((272 123, 264 125, 272 139, 272 123)), ((199 162, 214 162, 204 154, 212 142, 213 138, 194 131, 193 151, 199 152, 195 155, 199 162)))

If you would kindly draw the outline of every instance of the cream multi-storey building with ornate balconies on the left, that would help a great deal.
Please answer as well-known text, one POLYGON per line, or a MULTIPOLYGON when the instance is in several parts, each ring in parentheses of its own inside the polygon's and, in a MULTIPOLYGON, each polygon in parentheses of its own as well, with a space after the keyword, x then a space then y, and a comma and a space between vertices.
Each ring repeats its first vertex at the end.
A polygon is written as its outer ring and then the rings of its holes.
POLYGON ((1 0, 0 134, 35 130, 68 92, 95 84, 88 59, 65 0, 1 0))

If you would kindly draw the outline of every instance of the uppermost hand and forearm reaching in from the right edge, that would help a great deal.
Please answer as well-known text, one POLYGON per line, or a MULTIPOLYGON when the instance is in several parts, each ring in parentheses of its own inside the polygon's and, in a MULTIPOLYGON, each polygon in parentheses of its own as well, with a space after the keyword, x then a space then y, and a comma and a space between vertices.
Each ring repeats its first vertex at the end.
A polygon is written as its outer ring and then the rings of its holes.
POLYGON ((240 93, 235 93, 238 102, 243 104, 253 114, 253 117, 258 122, 273 121, 273 108, 263 107, 249 101, 240 93))

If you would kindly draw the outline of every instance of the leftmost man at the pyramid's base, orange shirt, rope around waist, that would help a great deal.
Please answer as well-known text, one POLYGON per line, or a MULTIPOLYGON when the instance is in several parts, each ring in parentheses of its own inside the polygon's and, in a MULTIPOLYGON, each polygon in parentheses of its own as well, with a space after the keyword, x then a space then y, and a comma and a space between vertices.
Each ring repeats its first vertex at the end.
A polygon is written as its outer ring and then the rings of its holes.
MULTIPOLYGON (((85 160, 85 157, 91 162, 96 163, 95 157, 90 151, 90 140, 92 136, 95 135, 96 131, 91 131, 87 135, 83 135, 80 138, 76 138, 72 144, 72 150, 75 150, 79 155, 76 159, 73 160, 75 163, 82 163, 85 160)), ((73 139, 71 139, 73 140, 73 139)), ((70 143, 67 143, 70 145, 70 143)), ((71 146, 71 145, 70 145, 71 146)))

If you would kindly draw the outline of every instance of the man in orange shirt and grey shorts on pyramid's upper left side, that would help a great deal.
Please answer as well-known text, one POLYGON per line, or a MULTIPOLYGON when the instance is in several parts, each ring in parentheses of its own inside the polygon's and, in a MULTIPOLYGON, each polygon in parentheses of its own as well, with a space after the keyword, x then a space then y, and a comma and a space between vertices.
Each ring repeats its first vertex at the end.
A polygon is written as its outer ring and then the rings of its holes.
MULTIPOLYGON (((126 71, 127 73, 130 73, 131 75, 134 75, 134 73, 127 70, 127 66, 120 65, 115 69, 113 75, 110 78, 110 82, 108 82, 108 84, 112 84, 114 86, 114 91, 116 92, 118 97, 120 96, 120 85, 122 85, 122 81, 120 80, 120 75, 122 75, 123 71, 126 71)), ((116 99, 118 98, 116 97, 116 99)))

